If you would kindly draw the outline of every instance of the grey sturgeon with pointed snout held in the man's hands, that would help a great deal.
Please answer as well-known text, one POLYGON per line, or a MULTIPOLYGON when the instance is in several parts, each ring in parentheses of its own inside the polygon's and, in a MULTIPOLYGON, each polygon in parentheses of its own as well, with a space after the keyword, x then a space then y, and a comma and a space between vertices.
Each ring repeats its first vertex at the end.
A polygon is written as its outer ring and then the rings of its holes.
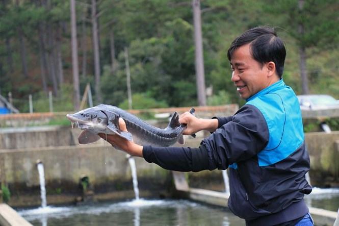
MULTIPOLYGON (((190 113, 194 115, 195 109, 190 113)), ((133 141, 139 145, 171 146, 176 142, 184 144, 182 133, 187 124, 179 122, 179 115, 174 112, 168 126, 165 129, 154 127, 137 116, 128 113, 116 106, 100 104, 87 108, 74 114, 67 114, 66 117, 74 125, 80 128, 78 140, 80 144, 94 143, 100 139, 99 133, 116 134, 126 140, 133 141), (119 118, 126 123, 126 131, 120 130, 119 118)), ((195 137, 195 134, 191 136, 195 137)))

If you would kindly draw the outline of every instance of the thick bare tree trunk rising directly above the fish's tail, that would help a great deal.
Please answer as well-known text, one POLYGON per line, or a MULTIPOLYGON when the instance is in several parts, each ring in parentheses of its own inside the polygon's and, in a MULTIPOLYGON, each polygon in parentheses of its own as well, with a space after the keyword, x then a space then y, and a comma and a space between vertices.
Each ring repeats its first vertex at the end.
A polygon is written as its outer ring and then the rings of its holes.
POLYGON ((206 105, 205 94, 205 75, 203 65, 203 48, 202 48, 202 32, 201 32, 201 11, 200 1, 192 0, 193 21, 194 21, 194 42, 195 42, 195 73, 197 84, 197 95, 199 106, 206 105))

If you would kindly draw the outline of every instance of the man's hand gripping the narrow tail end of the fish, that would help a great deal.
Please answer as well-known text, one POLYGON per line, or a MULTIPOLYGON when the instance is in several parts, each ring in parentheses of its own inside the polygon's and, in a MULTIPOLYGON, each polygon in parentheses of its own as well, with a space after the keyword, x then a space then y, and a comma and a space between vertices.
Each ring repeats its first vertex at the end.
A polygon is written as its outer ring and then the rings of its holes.
POLYGON ((179 122, 181 124, 187 124, 187 128, 183 133, 184 135, 195 134, 201 130, 213 132, 218 128, 218 119, 197 118, 190 112, 181 114, 179 116, 179 122))

